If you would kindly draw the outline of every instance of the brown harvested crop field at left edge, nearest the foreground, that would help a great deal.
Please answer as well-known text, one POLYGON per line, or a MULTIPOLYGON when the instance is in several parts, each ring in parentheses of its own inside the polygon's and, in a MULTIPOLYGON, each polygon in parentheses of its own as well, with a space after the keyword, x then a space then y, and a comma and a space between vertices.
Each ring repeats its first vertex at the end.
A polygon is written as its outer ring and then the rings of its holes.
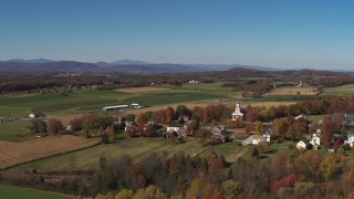
POLYGON ((87 148, 98 143, 101 143, 101 139, 86 139, 72 135, 40 137, 22 143, 0 140, 0 170, 87 148))

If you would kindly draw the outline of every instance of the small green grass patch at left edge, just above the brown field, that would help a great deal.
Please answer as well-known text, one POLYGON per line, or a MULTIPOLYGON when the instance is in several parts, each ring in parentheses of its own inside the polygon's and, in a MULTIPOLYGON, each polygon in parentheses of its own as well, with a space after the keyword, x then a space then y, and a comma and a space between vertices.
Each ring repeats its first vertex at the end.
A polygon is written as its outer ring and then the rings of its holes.
POLYGON ((27 126, 30 122, 0 123, 0 140, 23 142, 34 138, 27 126))

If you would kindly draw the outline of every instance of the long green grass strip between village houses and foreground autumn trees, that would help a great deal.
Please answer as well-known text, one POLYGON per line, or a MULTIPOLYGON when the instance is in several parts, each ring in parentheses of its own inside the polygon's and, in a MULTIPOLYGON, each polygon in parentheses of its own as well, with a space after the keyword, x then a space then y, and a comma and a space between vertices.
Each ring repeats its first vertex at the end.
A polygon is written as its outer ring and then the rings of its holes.
POLYGON ((174 144, 163 138, 125 138, 108 145, 98 145, 83 150, 55 156, 27 165, 12 168, 13 170, 37 169, 39 171, 63 170, 63 169, 93 169, 98 166, 98 158, 105 156, 107 159, 118 158, 122 155, 132 156, 138 161, 148 151, 166 151, 168 155, 184 151, 190 156, 205 156, 210 151, 223 154, 227 161, 235 163, 239 157, 250 157, 251 148, 238 146, 238 143, 202 147, 199 139, 186 138, 184 144, 174 144))

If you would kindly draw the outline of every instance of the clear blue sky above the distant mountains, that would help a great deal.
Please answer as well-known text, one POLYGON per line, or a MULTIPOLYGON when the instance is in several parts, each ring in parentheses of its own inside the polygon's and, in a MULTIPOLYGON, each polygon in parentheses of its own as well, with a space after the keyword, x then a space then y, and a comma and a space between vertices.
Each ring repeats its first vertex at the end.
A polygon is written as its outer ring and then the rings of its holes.
POLYGON ((0 0, 0 60, 354 69, 353 0, 0 0))

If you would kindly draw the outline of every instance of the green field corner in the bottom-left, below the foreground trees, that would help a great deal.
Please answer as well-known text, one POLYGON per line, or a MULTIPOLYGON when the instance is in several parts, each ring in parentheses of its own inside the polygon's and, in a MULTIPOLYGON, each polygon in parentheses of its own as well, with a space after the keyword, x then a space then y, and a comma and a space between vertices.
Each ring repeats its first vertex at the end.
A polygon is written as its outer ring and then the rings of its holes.
POLYGON ((0 199, 65 199, 72 198, 70 196, 43 191, 43 190, 35 190, 35 189, 28 189, 28 188, 20 188, 20 187, 10 187, 0 185, 0 199))

